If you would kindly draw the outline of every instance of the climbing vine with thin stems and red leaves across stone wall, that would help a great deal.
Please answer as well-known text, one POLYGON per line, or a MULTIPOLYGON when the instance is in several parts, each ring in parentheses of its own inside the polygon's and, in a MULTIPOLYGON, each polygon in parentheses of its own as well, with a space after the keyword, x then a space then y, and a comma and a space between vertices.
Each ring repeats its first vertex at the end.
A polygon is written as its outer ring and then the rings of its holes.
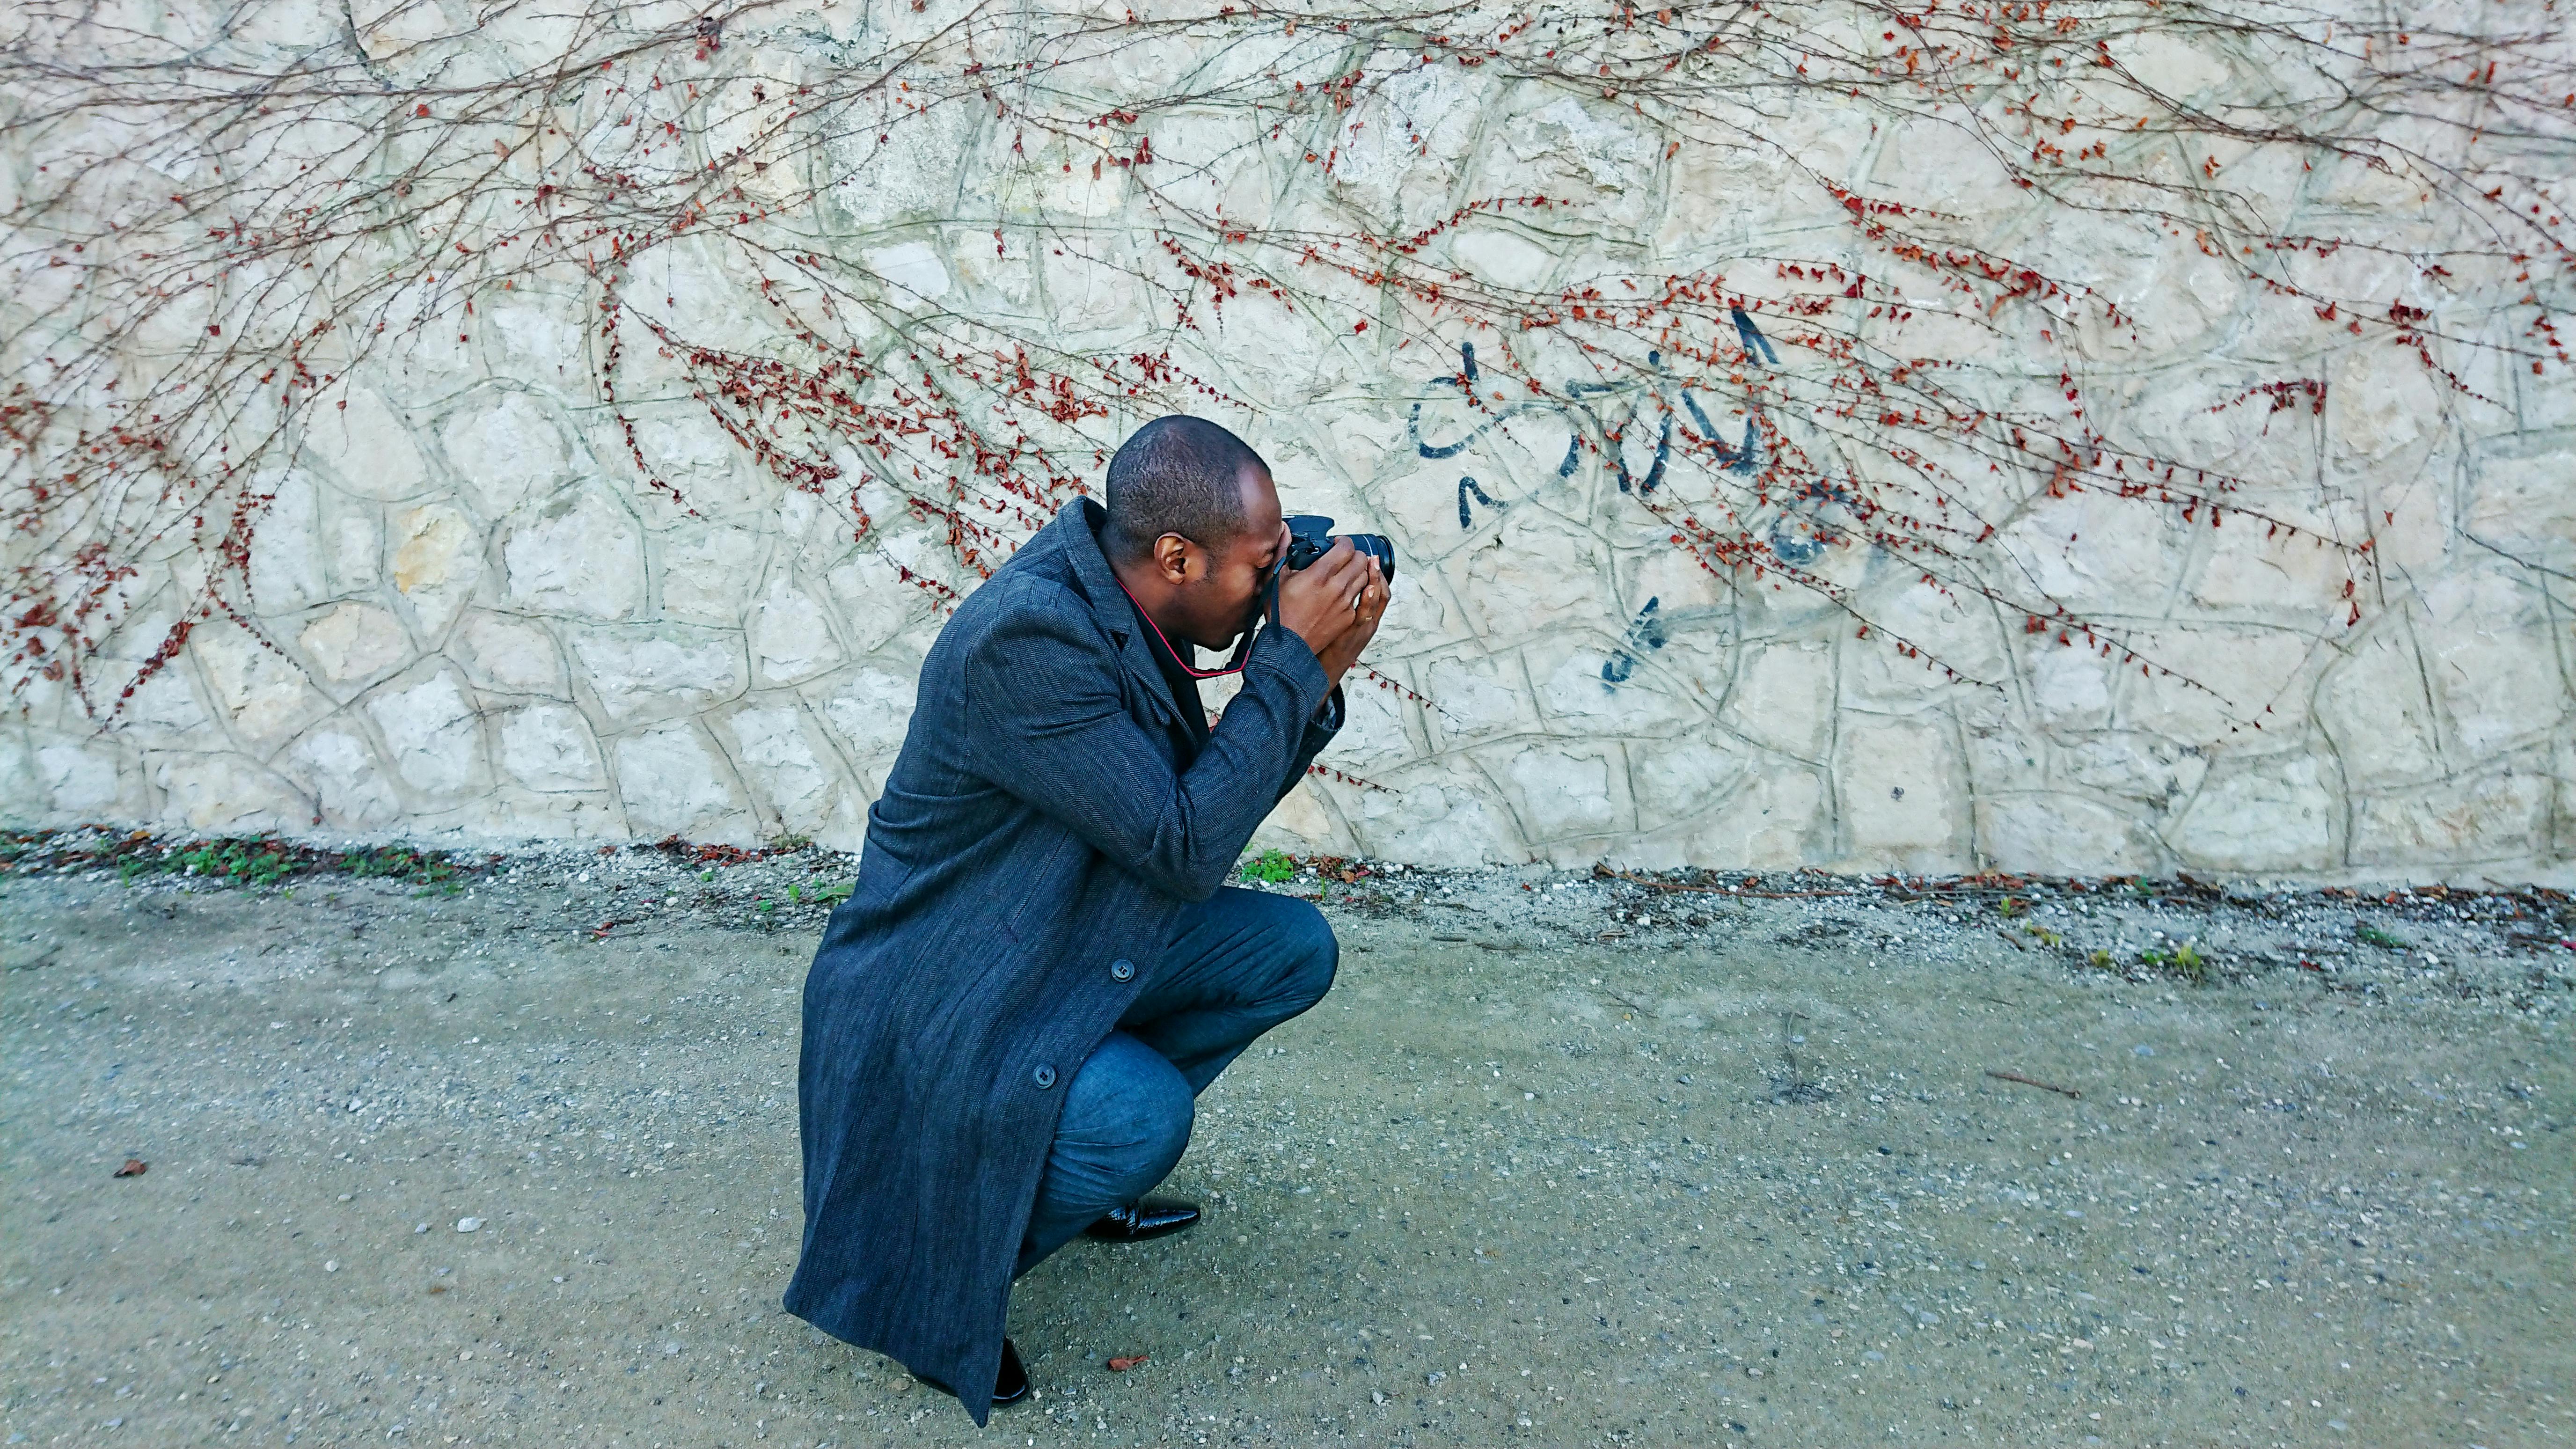
MULTIPOLYGON (((1888 614, 1891 565, 2190 678, 2012 547, 2035 503, 2079 492, 2117 503, 2112 526, 2326 549, 2336 621, 2372 606, 2383 521, 2354 498, 2213 428, 2136 428, 2128 364, 2166 345, 2177 291, 2241 297, 2241 345, 2169 423, 2321 418, 2306 364, 2331 348, 2385 348, 2439 407, 2509 410, 2571 366, 2576 64, 2548 5, 121 15, 41 0, 0 46, 0 645, 21 696, 52 681, 100 717, 198 624, 258 634, 252 536, 301 438, 355 382, 474 348, 518 291, 582 297, 587 384, 670 505, 690 487, 639 425, 685 402, 860 547, 884 508, 930 523, 935 557, 889 562, 943 603, 1133 420, 1260 413, 1226 379, 1262 335, 1417 369, 1422 459, 1548 438, 1558 477, 1605 472, 1726 588, 1803 593, 1947 678, 1984 676, 1888 614), (1592 129, 1571 162, 1515 170, 1476 137, 1504 111, 1592 129), (1891 144, 1965 170, 1855 165, 1891 144), (1744 217, 1741 245, 1643 260, 1708 250, 1651 237, 1672 196, 1700 196, 1695 224, 1744 217), (930 199, 948 266, 981 281, 891 263, 884 240, 922 235, 899 199, 930 199), (1540 281, 1471 235, 1595 260, 1540 281), (1146 340, 1100 351, 1010 299, 1048 268, 1113 276, 1146 340), (724 327, 657 294, 670 271, 739 294, 724 327)), ((1458 490, 1461 521, 1497 503, 1458 490)))

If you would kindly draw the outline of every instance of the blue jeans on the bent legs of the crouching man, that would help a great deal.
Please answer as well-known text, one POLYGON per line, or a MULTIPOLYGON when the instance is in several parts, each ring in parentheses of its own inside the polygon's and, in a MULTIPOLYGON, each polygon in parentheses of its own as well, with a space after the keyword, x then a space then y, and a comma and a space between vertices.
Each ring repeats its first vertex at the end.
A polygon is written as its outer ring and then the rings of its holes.
POLYGON ((1255 1036, 1324 1000, 1340 959, 1324 913, 1291 895, 1224 887, 1185 905, 1144 993, 1064 1093, 1012 1276, 1170 1176, 1198 1093, 1255 1036))

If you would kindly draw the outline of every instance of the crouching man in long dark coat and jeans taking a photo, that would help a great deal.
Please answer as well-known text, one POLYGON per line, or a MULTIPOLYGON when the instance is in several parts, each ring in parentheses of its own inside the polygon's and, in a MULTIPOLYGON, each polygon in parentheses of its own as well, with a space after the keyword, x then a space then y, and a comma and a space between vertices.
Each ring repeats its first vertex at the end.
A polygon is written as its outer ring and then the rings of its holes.
POLYGON ((1118 449, 922 660, 858 884, 804 990, 804 1253, 786 1307, 956 1392, 1028 1395, 1010 1284, 1077 1235, 1136 1240, 1193 1098, 1314 1006, 1337 946, 1303 900, 1221 887, 1342 724, 1376 559, 1283 570, 1270 467, 1198 418, 1118 449), (1275 621, 1208 727, 1198 647, 1275 621))

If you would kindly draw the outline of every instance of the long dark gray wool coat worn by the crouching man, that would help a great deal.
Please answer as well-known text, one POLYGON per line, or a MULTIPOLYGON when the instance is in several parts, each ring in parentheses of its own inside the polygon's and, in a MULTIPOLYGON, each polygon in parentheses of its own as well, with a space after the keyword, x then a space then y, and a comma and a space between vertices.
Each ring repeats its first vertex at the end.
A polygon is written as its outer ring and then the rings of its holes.
POLYGON ((786 1307, 979 1426, 1066 1083, 1332 737, 1324 668, 1273 627, 1193 761, 1100 516, 1066 505, 940 629, 804 990, 786 1307))

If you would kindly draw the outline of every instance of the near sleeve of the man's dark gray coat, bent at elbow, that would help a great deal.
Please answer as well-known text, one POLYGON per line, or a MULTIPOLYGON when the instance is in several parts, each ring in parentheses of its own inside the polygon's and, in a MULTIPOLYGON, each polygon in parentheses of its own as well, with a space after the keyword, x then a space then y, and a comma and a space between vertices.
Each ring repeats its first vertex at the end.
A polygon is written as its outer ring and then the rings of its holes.
POLYGON ((1010 608, 966 652, 969 761, 1162 895, 1206 900, 1278 804, 1280 779, 1303 773, 1324 665, 1293 632, 1262 629, 1244 688, 1185 773, 1128 714, 1118 678, 1090 611, 1010 608))

